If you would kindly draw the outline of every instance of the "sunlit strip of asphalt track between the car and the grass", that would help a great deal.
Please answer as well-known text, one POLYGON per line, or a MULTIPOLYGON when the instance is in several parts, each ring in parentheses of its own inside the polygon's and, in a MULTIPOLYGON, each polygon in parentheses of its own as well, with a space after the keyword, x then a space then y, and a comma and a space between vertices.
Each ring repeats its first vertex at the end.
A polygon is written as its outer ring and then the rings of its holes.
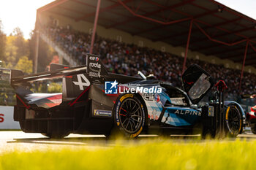
MULTIPOLYGON (((150 142, 154 139, 158 139, 157 135, 140 135, 138 139, 135 139, 135 143, 150 142)), ((170 142, 198 142, 198 135, 171 135, 167 137, 170 142)), ((256 140, 256 135, 251 133, 238 135, 234 139, 225 139, 230 142, 236 139, 251 141, 256 140)), ((130 142, 131 140, 122 139, 122 144, 130 142)), ((199 140, 199 142, 206 142, 199 140)), ((120 144, 120 143, 119 143, 120 144)), ((99 148, 108 148, 116 145, 115 140, 106 139, 103 135, 79 135, 70 134, 64 139, 49 139, 42 136, 42 134, 27 134, 22 131, 0 131, 0 152, 9 152, 15 150, 23 150, 31 152, 34 150, 61 150, 63 148, 78 149, 85 148, 89 150, 95 150, 99 148)))

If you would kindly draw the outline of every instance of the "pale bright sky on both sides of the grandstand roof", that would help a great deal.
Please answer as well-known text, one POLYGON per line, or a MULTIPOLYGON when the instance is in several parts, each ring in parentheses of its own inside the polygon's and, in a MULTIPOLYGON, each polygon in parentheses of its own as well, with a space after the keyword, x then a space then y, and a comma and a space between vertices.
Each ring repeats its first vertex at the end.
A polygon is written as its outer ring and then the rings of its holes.
MULTIPOLYGON (((15 27, 20 27, 25 39, 34 29, 37 9, 54 0, 0 0, 0 20, 4 33, 9 35, 15 27)), ((256 19, 255 0, 217 0, 227 7, 256 19)))

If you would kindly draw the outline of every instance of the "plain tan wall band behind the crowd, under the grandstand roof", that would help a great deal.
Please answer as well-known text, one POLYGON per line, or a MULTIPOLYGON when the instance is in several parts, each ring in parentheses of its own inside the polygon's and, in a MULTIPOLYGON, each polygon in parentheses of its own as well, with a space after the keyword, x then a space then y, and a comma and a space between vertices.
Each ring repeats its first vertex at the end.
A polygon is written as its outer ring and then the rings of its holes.
MULTIPOLYGON (((59 26, 67 26, 68 24, 72 26, 73 29, 78 31, 84 31, 89 33, 89 31, 93 28, 93 23, 88 23, 86 21, 78 21, 76 22, 72 18, 66 18, 61 15, 56 15, 50 12, 42 12, 39 15, 39 21, 41 24, 48 23, 49 17, 56 18, 59 21, 59 26)), ((108 39, 117 39, 118 36, 121 36, 122 42, 125 43, 133 43, 135 45, 140 45, 140 42, 143 42, 144 47, 152 47, 156 50, 162 50, 165 48, 166 52, 173 53, 178 56, 183 56, 185 53, 184 47, 173 47, 172 45, 168 45, 165 42, 152 42, 149 39, 145 39, 141 36, 132 36, 124 31, 119 31, 116 29, 106 29, 102 26, 97 26, 97 34, 99 36, 108 38, 108 39)), ((203 55, 202 53, 192 52, 189 50, 188 58, 195 58, 201 61, 206 61, 208 63, 216 63, 216 64, 223 64, 225 63, 225 67, 232 68, 232 69, 239 69, 241 70, 242 64, 241 63, 234 63, 230 60, 222 60, 217 58, 214 55, 203 55)), ((243 58, 243 56, 241 56, 243 58)), ((256 74, 256 69, 252 66, 246 66, 244 68, 244 72, 252 72, 256 74)))

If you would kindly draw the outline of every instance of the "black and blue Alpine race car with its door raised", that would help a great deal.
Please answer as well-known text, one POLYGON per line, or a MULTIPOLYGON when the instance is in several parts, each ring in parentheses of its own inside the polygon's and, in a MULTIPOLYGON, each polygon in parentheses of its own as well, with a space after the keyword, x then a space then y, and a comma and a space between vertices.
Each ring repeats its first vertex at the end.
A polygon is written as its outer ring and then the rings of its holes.
POLYGON ((221 99, 225 82, 217 83, 219 97, 199 106, 214 86, 210 74, 192 65, 182 75, 184 90, 153 76, 107 72, 97 55, 86 55, 85 66, 52 64, 50 72, 24 75, 11 71, 16 91, 14 120, 24 132, 50 138, 68 134, 202 134, 237 136, 244 130, 244 111, 221 99), (31 83, 62 78, 62 93, 32 93, 31 83))

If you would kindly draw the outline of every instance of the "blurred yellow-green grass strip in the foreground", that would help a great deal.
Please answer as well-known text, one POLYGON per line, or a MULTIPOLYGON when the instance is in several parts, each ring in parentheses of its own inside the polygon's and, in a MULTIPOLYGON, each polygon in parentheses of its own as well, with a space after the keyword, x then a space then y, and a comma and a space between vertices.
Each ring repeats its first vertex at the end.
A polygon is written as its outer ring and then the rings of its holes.
POLYGON ((113 147, 9 151, 0 169, 256 169, 255 141, 116 142, 113 147))

